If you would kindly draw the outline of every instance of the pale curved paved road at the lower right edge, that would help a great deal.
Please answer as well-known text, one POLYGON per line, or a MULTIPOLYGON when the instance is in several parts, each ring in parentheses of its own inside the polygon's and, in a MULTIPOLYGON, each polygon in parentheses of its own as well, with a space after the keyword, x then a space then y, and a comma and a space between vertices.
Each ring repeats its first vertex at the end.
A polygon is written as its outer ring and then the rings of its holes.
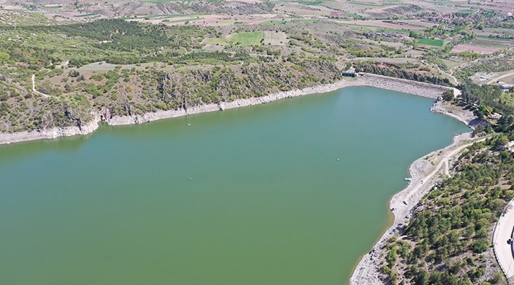
POLYGON ((496 258, 498 263, 505 270, 508 279, 514 277, 514 257, 510 244, 507 240, 510 239, 514 227, 514 201, 510 201, 507 210, 496 224, 496 235, 493 240, 493 245, 496 251, 496 258))

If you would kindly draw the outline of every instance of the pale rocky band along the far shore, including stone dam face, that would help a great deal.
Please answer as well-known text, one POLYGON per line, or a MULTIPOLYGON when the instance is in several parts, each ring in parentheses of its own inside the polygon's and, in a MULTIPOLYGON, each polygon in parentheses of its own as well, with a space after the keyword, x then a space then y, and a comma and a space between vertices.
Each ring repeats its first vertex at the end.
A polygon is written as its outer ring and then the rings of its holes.
MULTIPOLYGON (((154 120, 162 120, 166 118, 176 118, 184 115, 193 115, 198 113, 214 112, 218 110, 226 110, 231 108, 239 108, 251 105, 259 105, 269 103, 285 98, 293 98, 303 95, 327 93, 349 86, 371 86, 386 90, 394 90, 413 95, 423 96, 427 98, 438 98, 441 93, 448 90, 448 87, 435 86, 428 83, 419 83, 416 81, 408 81, 398 78, 389 78, 385 76, 376 76, 373 74, 363 74, 358 78, 345 78, 336 83, 323 84, 304 89, 291 90, 286 92, 272 93, 263 97, 236 99, 231 102, 222 102, 219 104, 199 105, 188 108, 187 110, 161 110, 155 113, 145 113, 143 115, 131 116, 114 116, 106 120, 109 125, 136 125, 148 123, 154 120)), ((24 142, 29 140, 53 139, 59 137, 69 137, 72 135, 86 135, 94 132, 98 128, 100 115, 94 114, 94 120, 86 125, 66 127, 66 128, 49 128, 44 130, 23 131, 19 133, 0 133, 0 145, 10 144, 14 142, 24 142)))

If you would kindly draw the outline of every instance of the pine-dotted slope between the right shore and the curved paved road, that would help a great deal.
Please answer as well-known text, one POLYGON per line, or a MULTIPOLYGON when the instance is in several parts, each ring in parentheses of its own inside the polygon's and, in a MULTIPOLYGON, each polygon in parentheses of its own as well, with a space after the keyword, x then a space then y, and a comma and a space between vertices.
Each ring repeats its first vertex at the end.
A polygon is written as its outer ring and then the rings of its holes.
POLYGON ((514 157, 495 135, 468 147, 456 173, 435 185, 420 202, 400 237, 388 243, 383 272, 408 284, 502 284, 490 237, 505 204, 514 197, 514 157), (497 272, 497 273, 495 273, 497 272), (398 275, 397 275, 398 274, 398 275))

